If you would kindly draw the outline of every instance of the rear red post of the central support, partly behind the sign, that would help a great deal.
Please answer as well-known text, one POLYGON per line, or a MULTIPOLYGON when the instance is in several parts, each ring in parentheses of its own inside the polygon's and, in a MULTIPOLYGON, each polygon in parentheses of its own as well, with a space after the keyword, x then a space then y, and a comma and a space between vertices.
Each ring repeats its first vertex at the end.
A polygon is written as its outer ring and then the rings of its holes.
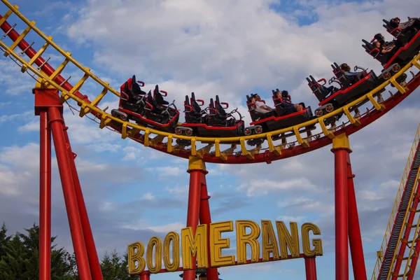
MULTIPOLYGON (((209 204, 209 193, 207 193, 207 182, 206 174, 209 173, 206 170, 202 170, 200 174, 200 183, 201 183, 201 195, 200 195, 200 224, 211 223, 211 214, 210 214, 210 204, 209 204)), ((207 228, 207 252, 210 260, 210 225, 207 228)), ((209 280, 218 280, 218 272, 216 267, 211 267, 206 269, 207 279, 209 280)))

